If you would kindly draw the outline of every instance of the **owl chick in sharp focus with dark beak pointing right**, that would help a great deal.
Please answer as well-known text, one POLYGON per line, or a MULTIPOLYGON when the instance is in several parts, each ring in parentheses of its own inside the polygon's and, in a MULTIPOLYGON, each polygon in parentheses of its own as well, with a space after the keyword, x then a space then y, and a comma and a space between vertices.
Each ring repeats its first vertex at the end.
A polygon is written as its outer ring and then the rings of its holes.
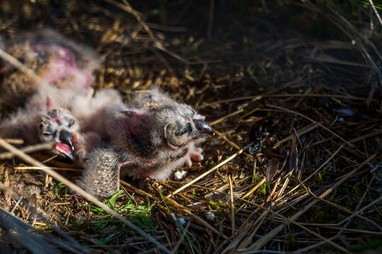
POLYGON ((88 193, 99 197, 112 195, 120 187, 120 174, 165 180, 196 150, 200 153, 197 144, 212 133, 204 116, 167 95, 161 97, 157 90, 152 95, 138 95, 127 105, 106 110, 108 148, 88 154, 79 182, 88 193))

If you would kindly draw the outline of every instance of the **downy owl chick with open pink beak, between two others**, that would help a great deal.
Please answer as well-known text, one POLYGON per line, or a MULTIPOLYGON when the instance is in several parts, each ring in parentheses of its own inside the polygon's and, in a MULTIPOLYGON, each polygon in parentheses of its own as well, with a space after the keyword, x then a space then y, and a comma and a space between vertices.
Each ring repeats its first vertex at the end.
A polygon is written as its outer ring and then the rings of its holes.
POLYGON ((99 115, 111 104, 122 104, 116 90, 73 90, 43 84, 25 107, 0 123, 0 137, 22 138, 28 145, 54 142, 52 152, 81 161, 102 137, 99 115), (97 121, 96 121, 97 119, 97 121))

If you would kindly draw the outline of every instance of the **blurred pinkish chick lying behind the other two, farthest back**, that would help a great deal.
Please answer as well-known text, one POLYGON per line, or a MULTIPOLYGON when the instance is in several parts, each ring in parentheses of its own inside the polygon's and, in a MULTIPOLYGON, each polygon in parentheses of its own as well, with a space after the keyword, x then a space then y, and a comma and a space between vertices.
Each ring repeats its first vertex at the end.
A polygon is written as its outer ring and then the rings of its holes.
POLYGON ((8 62, 0 63, 1 91, 8 102, 20 102, 41 83, 82 90, 90 87, 99 61, 90 49, 53 32, 38 30, 9 42, 6 52, 40 77, 35 80, 8 62))

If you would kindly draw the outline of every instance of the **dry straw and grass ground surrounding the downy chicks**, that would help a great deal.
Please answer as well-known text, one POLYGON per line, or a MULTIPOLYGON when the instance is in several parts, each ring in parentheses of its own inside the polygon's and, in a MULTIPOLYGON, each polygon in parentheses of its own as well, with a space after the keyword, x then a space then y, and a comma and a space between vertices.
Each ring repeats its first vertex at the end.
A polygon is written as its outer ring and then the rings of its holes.
POLYGON ((1 35, 49 24, 102 56, 96 88, 129 99, 159 85, 216 135, 184 181, 124 179, 104 203, 70 195, 81 169, 37 152, 50 144, 0 140, 0 241, 36 253, 381 251, 381 6, 317 2, 4 1, 1 35))

